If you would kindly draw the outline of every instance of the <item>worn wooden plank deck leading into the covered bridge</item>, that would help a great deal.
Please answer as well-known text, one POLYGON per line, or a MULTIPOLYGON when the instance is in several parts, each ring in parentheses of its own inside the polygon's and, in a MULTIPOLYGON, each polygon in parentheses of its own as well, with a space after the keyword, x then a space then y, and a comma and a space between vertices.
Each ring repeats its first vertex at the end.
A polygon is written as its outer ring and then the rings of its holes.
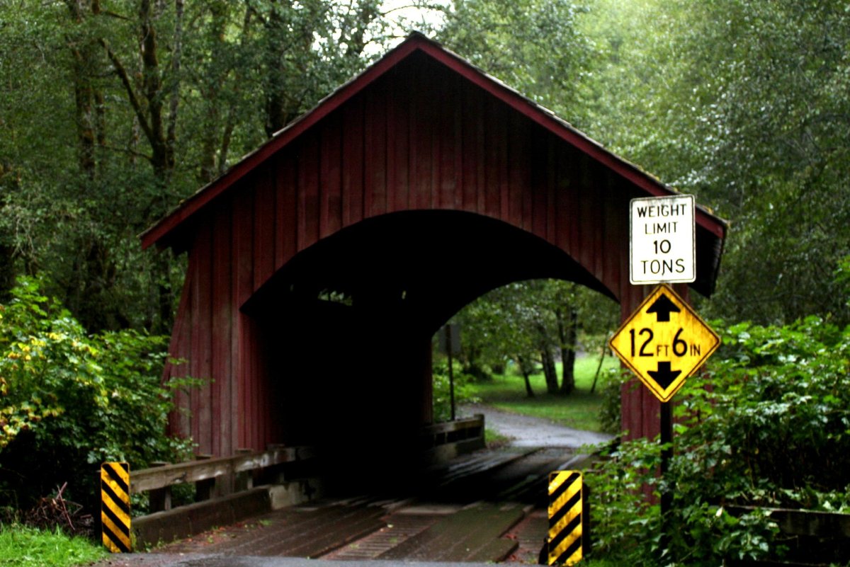
POLYGON ((418 485, 418 496, 327 499, 283 508, 158 552, 479 563, 535 555, 546 522, 532 502, 538 492, 545 494, 545 485, 537 485, 546 471, 563 458, 563 452, 546 451, 470 455, 428 479, 430 486, 418 485))

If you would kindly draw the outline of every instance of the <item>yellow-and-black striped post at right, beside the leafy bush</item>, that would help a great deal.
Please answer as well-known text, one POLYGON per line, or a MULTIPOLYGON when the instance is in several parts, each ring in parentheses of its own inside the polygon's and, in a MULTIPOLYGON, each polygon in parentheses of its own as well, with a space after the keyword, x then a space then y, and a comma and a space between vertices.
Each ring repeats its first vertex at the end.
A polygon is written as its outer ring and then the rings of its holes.
POLYGON ((548 564, 575 565, 583 555, 583 478, 577 470, 549 474, 548 564))

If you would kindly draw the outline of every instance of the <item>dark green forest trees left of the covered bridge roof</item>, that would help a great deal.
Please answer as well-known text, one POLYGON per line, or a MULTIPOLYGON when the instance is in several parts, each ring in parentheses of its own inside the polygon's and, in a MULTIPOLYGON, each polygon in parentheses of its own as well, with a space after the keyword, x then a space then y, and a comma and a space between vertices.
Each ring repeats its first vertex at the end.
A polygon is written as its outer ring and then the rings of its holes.
POLYGON ((183 267, 138 234, 362 69, 386 25, 377 0, 0 3, 0 295, 44 273, 90 330, 170 330, 183 267))

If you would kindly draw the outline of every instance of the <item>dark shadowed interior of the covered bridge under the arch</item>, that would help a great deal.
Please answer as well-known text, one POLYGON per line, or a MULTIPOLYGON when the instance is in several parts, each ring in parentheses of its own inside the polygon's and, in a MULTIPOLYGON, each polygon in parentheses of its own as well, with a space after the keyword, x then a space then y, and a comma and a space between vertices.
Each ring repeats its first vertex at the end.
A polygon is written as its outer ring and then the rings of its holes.
POLYGON ((243 307, 285 400, 281 441, 360 463, 367 446, 395 460, 415 450, 431 421, 433 334, 479 295, 532 278, 610 295, 563 250, 461 211, 378 216, 303 250, 243 307))

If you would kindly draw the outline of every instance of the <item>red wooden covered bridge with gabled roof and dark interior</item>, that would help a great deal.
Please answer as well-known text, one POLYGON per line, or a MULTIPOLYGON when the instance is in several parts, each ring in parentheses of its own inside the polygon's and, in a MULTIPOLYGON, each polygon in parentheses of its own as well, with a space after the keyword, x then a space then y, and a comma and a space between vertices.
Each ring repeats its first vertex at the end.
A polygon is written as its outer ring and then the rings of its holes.
MULTIPOLYGON (((405 440, 432 421, 431 340, 503 284, 562 278, 621 304, 629 200, 673 191, 414 34, 143 235, 188 252, 167 375, 205 379, 173 432, 201 452, 405 440)), ((696 213, 711 295, 725 224, 696 213)), ((687 295, 687 287, 678 290, 687 295)), ((658 402, 626 389, 623 426, 658 402)))

